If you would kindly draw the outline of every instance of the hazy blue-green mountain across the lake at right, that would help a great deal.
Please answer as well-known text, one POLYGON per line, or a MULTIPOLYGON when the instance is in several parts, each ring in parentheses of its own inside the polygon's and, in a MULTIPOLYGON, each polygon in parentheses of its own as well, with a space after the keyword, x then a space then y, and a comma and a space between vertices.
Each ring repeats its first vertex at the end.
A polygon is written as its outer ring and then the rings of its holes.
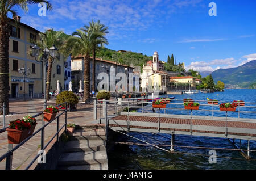
POLYGON ((232 89, 254 89, 256 85, 256 60, 236 68, 218 69, 213 71, 212 77, 214 82, 222 81, 232 89))

